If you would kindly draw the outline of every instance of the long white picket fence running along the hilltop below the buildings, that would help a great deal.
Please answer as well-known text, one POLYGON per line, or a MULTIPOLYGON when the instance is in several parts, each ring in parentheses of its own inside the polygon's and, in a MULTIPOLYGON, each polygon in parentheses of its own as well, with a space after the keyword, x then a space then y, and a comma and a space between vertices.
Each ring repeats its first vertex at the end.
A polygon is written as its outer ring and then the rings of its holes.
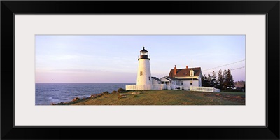
POLYGON ((165 84, 159 85, 126 85, 125 90, 190 90, 198 92, 220 92, 220 89, 214 87, 183 87, 172 85, 168 86, 165 84))

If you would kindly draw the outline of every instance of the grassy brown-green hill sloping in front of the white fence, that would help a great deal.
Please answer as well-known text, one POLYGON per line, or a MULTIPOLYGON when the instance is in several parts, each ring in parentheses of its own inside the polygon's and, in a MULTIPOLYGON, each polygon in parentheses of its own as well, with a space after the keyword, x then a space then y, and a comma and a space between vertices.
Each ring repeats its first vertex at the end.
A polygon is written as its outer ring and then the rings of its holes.
POLYGON ((245 93, 144 90, 97 94, 59 105, 245 105, 245 93))

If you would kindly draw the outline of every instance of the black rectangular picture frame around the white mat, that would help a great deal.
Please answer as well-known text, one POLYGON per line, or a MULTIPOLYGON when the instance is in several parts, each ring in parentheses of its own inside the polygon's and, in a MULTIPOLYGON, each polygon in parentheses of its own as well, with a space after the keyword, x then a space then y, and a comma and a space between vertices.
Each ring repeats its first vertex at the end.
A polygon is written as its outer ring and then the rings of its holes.
POLYGON ((279 6, 279 1, 1 1, 1 139, 279 139, 279 6), (13 13, 266 13, 267 127, 13 127, 13 13))

